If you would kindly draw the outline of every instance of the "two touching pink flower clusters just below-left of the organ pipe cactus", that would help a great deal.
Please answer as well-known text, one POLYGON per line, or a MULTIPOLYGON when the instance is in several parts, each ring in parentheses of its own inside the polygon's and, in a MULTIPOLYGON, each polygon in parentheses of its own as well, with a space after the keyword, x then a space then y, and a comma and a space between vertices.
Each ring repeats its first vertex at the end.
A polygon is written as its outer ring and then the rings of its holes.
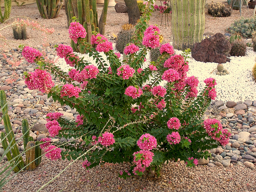
POLYGON ((59 44, 56 51, 57 55, 60 58, 64 58, 71 67, 74 67, 75 63, 79 60, 79 57, 73 53, 73 49, 70 46, 59 44))

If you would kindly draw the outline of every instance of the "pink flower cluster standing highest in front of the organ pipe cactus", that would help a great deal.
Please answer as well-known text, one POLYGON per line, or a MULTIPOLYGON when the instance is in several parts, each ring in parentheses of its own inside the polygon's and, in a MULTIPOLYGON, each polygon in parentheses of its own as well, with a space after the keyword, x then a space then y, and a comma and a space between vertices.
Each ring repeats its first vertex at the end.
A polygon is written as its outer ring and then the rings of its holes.
POLYGON ((79 24, 78 22, 70 23, 69 38, 71 38, 75 42, 75 44, 77 43, 77 39, 79 37, 86 38, 86 34, 86 29, 84 29, 81 24, 79 24))

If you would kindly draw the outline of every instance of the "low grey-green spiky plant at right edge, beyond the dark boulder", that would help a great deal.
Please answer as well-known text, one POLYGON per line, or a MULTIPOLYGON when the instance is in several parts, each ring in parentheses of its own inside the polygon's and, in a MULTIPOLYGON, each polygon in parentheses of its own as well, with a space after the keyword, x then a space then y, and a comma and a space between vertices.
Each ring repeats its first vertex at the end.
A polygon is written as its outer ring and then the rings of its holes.
POLYGON ((256 17, 254 18, 241 18, 234 21, 233 24, 227 29, 231 34, 240 34, 244 38, 251 38, 252 33, 256 30, 256 17))

